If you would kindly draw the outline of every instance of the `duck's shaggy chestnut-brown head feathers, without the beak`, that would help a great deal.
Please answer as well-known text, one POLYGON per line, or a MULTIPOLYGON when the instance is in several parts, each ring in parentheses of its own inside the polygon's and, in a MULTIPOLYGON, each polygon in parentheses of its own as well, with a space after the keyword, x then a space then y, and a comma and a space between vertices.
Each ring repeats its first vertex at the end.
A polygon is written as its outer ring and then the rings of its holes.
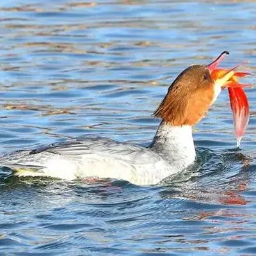
POLYGON ((207 113, 214 94, 214 80, 206 66, 191 66, 173 81, 154 115, 170 125, 195 125, 207 113))

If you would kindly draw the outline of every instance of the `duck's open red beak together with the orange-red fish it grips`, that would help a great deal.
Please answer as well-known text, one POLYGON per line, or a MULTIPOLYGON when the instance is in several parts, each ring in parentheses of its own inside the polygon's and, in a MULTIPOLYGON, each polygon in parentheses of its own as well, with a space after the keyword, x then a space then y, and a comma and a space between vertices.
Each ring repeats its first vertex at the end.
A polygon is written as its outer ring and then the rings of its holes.
POLYGON ((243 88, 252 86, 252 84, 239 83, 237 77, 245 77, 251 75, 249 72, 236 72, 236 68, 240 67, 244 63, 236 65, 233 68, 217 68, 220 61, 229 54, 228 51, 224 51, 207 66, 211 72, 211 76, 215 83, 220 84, 221 89, 228 88, 228 94, 230 99, 230 106, 233 113, 233 122, 236 131, 237 147, 240 146, 240 141, 243 138, 244 131, 249 121, 249 102, 244 93, 243 88))

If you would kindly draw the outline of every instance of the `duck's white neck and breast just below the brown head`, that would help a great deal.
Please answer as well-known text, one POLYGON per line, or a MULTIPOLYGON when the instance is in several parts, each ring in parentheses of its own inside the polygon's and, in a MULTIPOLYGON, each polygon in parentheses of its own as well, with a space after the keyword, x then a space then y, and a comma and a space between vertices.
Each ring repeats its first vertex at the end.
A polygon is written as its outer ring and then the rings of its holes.
POLYGON ((186 168, 193 163, 196 156, 192 127, 159 125, 151 148, 170 161, 174 168, 186 168))

